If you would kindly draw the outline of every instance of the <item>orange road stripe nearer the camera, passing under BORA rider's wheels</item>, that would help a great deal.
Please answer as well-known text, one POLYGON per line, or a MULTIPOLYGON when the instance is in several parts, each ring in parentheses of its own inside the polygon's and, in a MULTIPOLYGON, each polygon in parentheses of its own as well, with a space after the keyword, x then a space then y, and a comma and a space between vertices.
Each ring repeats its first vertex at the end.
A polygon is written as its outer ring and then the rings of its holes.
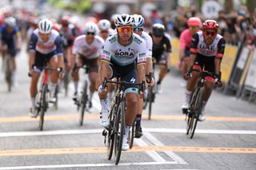
MULTIPOLYGON (((215 148, 215 147, 182 147, 182 146, 134 146, 126 152, 205 152, 205 153, 247 153, 255 154, 256 148, 215 148)), ((62 154, 106 153, 106 147, 86 148, 31 148, 17 150, 2 150, 0 156, 40 156, 62 154)), ((124 152, 123 152, 124 153, 124 152)))

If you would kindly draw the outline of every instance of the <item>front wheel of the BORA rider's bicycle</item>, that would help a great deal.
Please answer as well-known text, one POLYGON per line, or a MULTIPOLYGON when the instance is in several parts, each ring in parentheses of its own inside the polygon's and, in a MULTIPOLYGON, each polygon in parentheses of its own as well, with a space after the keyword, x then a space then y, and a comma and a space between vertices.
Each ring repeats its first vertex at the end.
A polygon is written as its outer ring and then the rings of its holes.
POLYGON ((115 164, 119 163, 122 153, 122 138, 125 131, 125 108, 124 101, 118 105, 118 114, 115 119, 114 127, 114 155, 115 164))

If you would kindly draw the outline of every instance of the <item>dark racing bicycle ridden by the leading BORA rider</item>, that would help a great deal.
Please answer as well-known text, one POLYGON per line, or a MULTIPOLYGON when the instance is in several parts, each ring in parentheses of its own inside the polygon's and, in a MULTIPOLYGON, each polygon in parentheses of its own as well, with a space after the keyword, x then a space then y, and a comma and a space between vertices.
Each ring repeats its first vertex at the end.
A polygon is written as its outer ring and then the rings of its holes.
POLYGON ((107 81, 105 77, 102 83, 103 89, 106 88, 106 83, 116 84, 117 90, 114 94, 113 101, 110 107, 110 125, 103 130, 102 136, 105 136, 104 144, 107 147, 108 160, 111 160, 114 151, 115 164, 118 164, 122 153, 122 138, 125 132, 126 98, 123 95, 124 85, 140 85, 140 89, 142 90, 142 92, 144 92, 145 81, 142 81, 142 83, 130 83, 126 81, 107 81))

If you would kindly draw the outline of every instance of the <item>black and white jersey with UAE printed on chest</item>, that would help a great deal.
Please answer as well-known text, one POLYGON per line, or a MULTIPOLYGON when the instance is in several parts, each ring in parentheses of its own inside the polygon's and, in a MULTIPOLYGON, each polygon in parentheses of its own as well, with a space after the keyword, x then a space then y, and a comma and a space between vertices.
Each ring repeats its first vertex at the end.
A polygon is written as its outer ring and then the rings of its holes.
POLYGON ((220 34, 214 38, 214 42, 206 45, 202 31, 194 34, 191 40, 190 53, 200 53, 205 57, 223 57, 226 42, 220 34))

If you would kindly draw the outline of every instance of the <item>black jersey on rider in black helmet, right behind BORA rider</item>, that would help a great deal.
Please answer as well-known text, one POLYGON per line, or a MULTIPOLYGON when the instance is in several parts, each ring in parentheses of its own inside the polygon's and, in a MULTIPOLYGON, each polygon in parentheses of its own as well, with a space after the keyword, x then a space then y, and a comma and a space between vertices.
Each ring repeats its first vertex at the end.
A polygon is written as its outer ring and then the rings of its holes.
MULTIPOLYGON (((152 38, 152 33, 150 33, 150 36, 152 38)), ((158 44, 155 44, 153 42, 152 47, 152 56, 155 57, 157 60, 159 57, 162 56, 164 52, 171 53, 170 36, 168 36, 167 34, 164 34, 161 42, 159 42, 158 44)))

